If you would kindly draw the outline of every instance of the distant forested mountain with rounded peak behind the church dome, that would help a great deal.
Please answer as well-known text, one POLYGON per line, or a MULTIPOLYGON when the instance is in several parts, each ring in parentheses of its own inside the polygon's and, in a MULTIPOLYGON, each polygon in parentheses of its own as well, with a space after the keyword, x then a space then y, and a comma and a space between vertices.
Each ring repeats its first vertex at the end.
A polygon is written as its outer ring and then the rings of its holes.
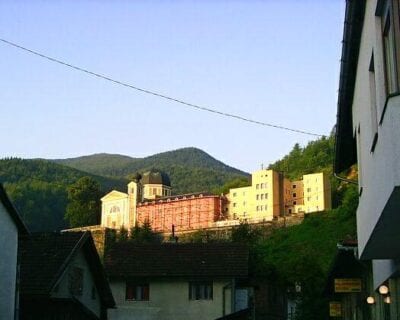
POLYGON ((173 194, 212 191, 232 179, 248 177, 246 172, 229 167, 197 148, 183 148, 146 158, 95 154, 55 161, 92 174, 126 179, 135 172, 161 170, 169 175, 173 194))

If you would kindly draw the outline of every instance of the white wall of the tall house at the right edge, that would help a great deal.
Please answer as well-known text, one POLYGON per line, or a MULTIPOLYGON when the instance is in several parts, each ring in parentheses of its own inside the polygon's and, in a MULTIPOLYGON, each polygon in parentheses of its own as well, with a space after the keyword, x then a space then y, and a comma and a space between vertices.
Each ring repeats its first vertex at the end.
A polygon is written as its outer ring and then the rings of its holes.
POLYGON ((388 100, 382 118, 386 102, 384 56, 381 18, 375 16, 375 9, 376 0, 368 1, 353 101, 353 130, 357 132, 359 183, 362 188, 357 210, 357 232, 362 258, 387 259, 400 252, 396 253, 396 250, 400 250, 400 234, 394 229, 400 216, 389 213, 389 216, 385 216, 385 220, 388 219, 385 230, 381 229, 380 232, 380 228, 376 227, 378 221, 382 222, 382 213, 394 188, 400 186, 400 97, 388 100), (383 119, 378 126, 378 140, 374 151, 371 151, 374 132, 371 103, 374 93, 371 90, 369 71, 372 53, 377 119, 383 119), (375 233, 376 231, 378 232, 375 233), (399 239, 393 237, 395 234, 399 235, 399 239), (384 243, 388 246, 385 247, 384 243), (395 250, 394 246, 397 246, 395 250))

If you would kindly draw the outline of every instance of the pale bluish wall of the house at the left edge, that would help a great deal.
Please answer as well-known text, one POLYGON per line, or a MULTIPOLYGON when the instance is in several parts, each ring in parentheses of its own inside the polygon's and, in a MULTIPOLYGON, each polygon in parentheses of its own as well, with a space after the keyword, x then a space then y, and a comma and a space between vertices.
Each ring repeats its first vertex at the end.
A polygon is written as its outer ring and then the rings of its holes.
POLYGON ((18 229, 0 202, 0 320, 14 319, 18 229))

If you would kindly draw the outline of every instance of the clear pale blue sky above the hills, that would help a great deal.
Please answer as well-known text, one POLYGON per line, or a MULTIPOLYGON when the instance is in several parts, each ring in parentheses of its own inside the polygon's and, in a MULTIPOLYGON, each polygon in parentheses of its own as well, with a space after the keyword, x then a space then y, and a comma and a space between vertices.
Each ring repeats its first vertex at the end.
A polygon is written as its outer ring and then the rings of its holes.
MULTIPOLYGON (((345 1, 1 1, 0 38, 148 90, 328 135, 345 1)), ((315 137, 93 78, 0 42, 0 157, 197 147, 253 171, 315 137)))

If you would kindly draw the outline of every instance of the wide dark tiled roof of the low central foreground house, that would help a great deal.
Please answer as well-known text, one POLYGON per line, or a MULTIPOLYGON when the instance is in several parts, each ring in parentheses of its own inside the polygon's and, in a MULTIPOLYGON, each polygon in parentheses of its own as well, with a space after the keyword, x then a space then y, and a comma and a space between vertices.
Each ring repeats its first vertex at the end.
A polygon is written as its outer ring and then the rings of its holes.
POLYGON ((109 277, 246 277, 248 248, 224 244, 117 243, 105 258, 109 277))

